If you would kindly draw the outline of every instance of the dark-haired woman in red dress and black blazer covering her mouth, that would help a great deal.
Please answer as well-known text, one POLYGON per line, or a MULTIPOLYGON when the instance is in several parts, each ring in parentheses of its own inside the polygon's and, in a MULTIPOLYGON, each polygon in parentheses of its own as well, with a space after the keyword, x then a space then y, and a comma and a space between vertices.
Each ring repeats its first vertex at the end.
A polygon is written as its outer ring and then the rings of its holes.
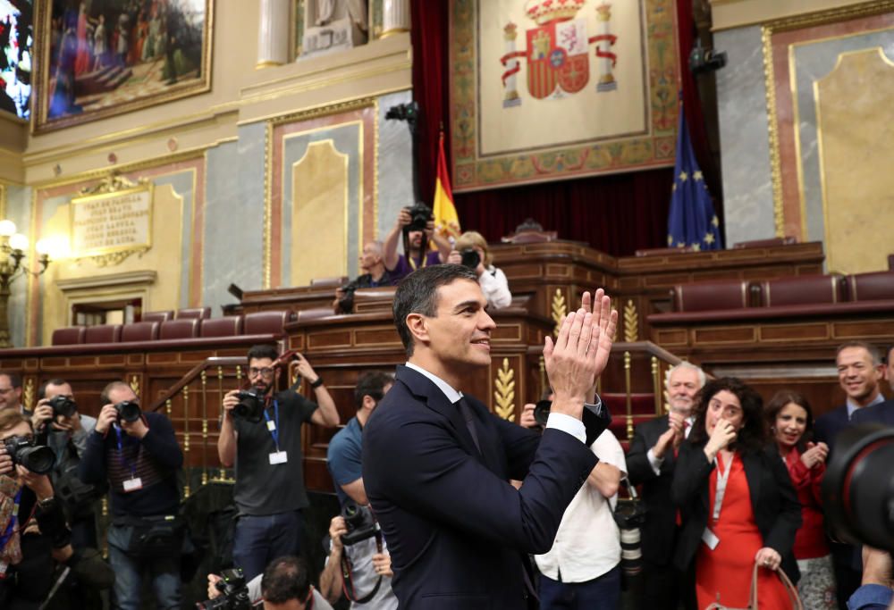
MULTIPOLYGON (((755 561, 770 570, 781 566, 789 579, 797 582, 792 547, 801 526, 801 505, 779 452, 767 445, 762 408, 760 395, 740 380, 710 380, 699 394, 692 433, 680 445, 671 496, 683 525, 674 563, 679 570, 689 572, 696 556, 701 557, 696 574, 699 607, 716 601, 717 596, 725 606, 745 607, 755 561), (717 481, 721 479, 718 456, 730 476, 721 511, 709 506, 715 469, 717 481), (740 479, 735 480, 737 459, 741 460, 747 483, 750 503, 746 504, 736 495, 745 489, 740 479), (745 506, 745 512, 753 514, 761 540, 756 553, 748 550, 755 532, 744 531, 743 524, 748 520, 732 513, 734 505, 739 509, 745 506), (722 511, 727 512, 726 522, 722 511), (736 534, 728 533, 730 518, 737 520, 736 534)), ((760 578, 762 597, 777 602, 786 599, 784 591, 780 592, 780 581, 771 572, 761 571, 760 578)), ((779 606, 762 601, 761 607, 779 606)))

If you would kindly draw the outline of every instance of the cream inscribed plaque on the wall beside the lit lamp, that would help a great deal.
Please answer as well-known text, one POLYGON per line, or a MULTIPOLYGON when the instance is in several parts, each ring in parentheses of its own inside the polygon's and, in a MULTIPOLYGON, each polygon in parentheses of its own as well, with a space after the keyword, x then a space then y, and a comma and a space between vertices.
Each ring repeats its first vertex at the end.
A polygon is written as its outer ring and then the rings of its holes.
POLYGON ((72 256, 146 252, 152 246, 152 185, 72 199, 72 256))

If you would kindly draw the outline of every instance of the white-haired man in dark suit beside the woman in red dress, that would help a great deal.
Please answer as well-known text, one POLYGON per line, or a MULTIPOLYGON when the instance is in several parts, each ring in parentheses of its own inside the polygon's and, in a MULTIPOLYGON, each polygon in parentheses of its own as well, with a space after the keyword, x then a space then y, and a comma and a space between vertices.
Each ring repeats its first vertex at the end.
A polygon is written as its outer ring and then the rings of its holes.
MULTIPOLYGON (((637 426, 627 456, 628 477, 643 486, 648 510, 640 528, 643 549, 643 586, 640 607, 676 610, 683 600, 682 575, 672 564, 679 535, 677 511, 671 502, 671 482, 679 444, 692 428, 692 407, 704 386, 704 371, 679 363, 668 371, 666 389, 670 411, 637 426)), ((657 397, 656 397, 657 399, 657 397)), ((688 590, 688 589, 687 589, 688 590)))

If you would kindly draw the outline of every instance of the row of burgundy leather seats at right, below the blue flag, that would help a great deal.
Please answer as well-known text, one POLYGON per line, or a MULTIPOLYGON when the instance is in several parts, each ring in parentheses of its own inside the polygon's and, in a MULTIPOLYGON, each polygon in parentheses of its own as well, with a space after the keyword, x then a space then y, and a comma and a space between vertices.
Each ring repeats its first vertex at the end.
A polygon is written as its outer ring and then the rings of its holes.
POLYGON ((671 289, 671 313, 653 320, 707 320, 772 316, 780 313, 874 311, 894 301, 894 272, 841 276, 804 275, 772 280, 716 280, 671 289))

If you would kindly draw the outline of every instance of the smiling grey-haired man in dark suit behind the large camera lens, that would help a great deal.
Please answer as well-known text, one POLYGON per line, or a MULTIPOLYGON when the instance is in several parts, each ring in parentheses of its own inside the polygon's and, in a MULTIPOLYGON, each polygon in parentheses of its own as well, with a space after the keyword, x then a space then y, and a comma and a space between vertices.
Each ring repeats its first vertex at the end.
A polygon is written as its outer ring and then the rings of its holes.
MULTIPOLYGON (((848 396, 847 402, 814 422, 814 440, 829 446, 829 461, 835 451, 835 439, 851 422, 862 419, 855 415, 866 407, 875 408, 884 402, 879 381, 884 375, 879 350, 864 341, 848 341, 835 355, 839 384, 848 396)), ((866 421, 866 420, 864 420, 866 421)), ((835 569, 836 595, 840 610, 847 610, 848 597, 860 586, 862 562, 860 549, 831 541, 832 564, 835 569)))

